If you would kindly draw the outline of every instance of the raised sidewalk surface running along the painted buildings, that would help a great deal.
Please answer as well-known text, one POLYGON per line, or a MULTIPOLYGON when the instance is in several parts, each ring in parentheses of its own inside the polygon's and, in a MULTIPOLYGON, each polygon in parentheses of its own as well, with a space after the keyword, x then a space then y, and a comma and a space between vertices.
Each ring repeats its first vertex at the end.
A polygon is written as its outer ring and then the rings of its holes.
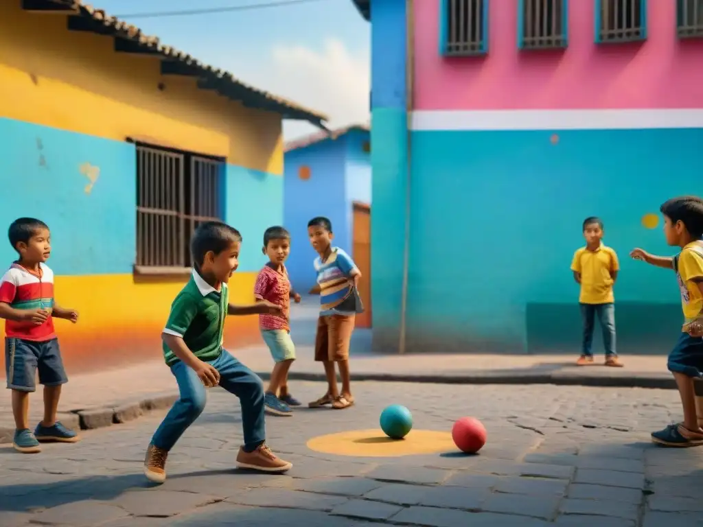
MULTIPOLYGON (((366 338, 363 332, 358 338, 366 338)), ((363 347, 359 345, 357 349, 363 347)), ((272 362, 266 346, 250 346, 234 351, 234 355, 262 378, 268 379, 272 362)), ((313 360, 311 346, 297 347, 297 360, 292 367, 292 380, 323 379, 319 363, 313 360)), ((573 356, 507 356, 507 355, 387 355, 352 354, 352 377, 361 380, 402 382, 437 382, 446 384, 576 384, 582 386, 640 386, 675 388, 666 372, 666 358, 630 356, 626 367, 576 367, 573 356)), ((4 384, 4 379, 0 379, 4 384)), ((162 360, 156 358, 127 367, 70 375, 61 395, 60 418, 78 425, 76 412, 106 407, 127 408, 155 397, 176 393, 176 383, 162 360)), ((98 412, 99 413, 99 412, 98 412)), ((41 419, 41 387, 30 399, 32 422, 41 419)), ((98 415, 98 417, 101 417, 98 415)), ((112 420, 108 416, 108 422, 112 420)), ((100 423, 96 426, 99 426, 100 423)), ((0 443, 11 441, 14 430, 10 397, 0 397, 0 443)))

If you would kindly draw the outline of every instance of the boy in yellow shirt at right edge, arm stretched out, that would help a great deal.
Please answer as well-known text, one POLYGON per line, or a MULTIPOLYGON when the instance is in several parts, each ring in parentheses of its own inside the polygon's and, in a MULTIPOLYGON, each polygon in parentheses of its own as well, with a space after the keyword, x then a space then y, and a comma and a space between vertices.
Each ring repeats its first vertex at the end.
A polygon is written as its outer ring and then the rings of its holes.
POLYGON ((703 200, 695 196, 674 197, 660 210, 664 214, 666 243, 681 247, 681 252, 671 258, 634 249, 630 256, 676 271, 684 324, 666 365, 681 395, 683 422, 652 432, 652 441, 676 447, 703 445, 703 383, 694 382, 703 378, 703 332, 695 324, 703 311, 703 200))

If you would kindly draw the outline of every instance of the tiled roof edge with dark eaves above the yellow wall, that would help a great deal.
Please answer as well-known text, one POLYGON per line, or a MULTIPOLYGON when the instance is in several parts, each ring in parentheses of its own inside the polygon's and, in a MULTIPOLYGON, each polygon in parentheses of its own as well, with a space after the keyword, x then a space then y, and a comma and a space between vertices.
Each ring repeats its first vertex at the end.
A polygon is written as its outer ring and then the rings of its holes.
POLYGON ((267 91, 254 88, 254 86, 240 81, 226 70, 204 64, 200 62, 200 60, 188 55, 188 53, 179 51, 172 46, 161 44, 158 37, 143 34, 138 27, 124 22, 124 20, 110 16, 102 9, 94 8, 89 4, 83 4, 82 1, 79 0, 51 0, 51 2, 76 11, 74 15, 69 14, 70 17, 81 17, 92 20, 96 24, 95 32, 98 34, 127 39, 145 50, 150 50, 162 55, 168 62, 183 63, 183 65, 197 70, 199 73, 202 73, 202 76, 199 75, 198 77, 202 77, 206 82, 217 84, 217 91, 221 95, 227 96, 232 100, 238 100, 245 103, 247 106, 259 110, 275 112, 288 119, 309 121, 316 126, 320 126, 322 129, 327 129, 323 124, 323 121, 328 120, 327 115, 317 112, 316 110, 311 110, 310 108, 305 108, 302 105, 273 95, 267 91), (228 89, 231 89, 232 92, 227 93, 228 89), (245 96, 252 97, 249 104, 247 104, 247 101, 243 100, 245 96))

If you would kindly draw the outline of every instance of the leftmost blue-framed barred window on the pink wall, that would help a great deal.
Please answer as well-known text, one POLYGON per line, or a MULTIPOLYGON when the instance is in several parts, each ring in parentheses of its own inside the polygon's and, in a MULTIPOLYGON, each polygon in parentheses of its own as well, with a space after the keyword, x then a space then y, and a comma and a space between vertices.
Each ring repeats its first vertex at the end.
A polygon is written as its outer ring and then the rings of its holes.
POLYGON ((488 0, 440 0, 439 52, 444 56, 488 52, 488 0))

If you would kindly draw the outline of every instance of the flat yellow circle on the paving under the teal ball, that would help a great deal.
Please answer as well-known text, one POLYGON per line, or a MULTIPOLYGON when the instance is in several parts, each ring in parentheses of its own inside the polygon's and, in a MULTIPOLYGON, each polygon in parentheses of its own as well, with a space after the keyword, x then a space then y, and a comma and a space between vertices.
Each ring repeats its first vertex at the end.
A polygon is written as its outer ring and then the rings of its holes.
POLYGON ((352 430, 314 437, 310 450, 325 454, 358 457, 400 457, 403 455, 456 452, 449 432, 412 430, 403 439, 391 439, 380 430, 352 430))

